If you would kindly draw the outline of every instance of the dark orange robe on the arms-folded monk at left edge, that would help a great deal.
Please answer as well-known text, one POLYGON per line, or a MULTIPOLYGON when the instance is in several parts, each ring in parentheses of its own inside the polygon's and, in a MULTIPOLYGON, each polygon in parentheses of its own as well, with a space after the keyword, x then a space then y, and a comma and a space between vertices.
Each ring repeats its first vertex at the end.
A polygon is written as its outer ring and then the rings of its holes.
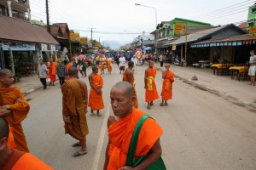
POLYGON ((21 127, 21 122, 26 118, 30 106, 24 98, 19 88, 10 86, 9 88, 0 87, 0 93, 3 96, 3 105, 11 105, 11 115, 3 116, 14 129, 14 139, 17 150, 29 152, 26 144, 26 138, 21 127), (16 103, 17 99, 21 99, 20 103, 16 103))

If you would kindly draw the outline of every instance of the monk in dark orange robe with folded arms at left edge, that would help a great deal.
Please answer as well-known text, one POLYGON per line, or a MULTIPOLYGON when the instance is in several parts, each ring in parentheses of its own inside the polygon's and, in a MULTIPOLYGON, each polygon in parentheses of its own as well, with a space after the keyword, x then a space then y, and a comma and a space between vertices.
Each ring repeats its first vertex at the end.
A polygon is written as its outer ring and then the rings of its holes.
POLYGON ((14 74, 8 69, 0 70, 0 94, 3 97, 0 116, 5 118, 14 129, 14 139, 17 150, 29 152, 21 122, 26 118, 30 106, 19 88, 11 86, 14 74))

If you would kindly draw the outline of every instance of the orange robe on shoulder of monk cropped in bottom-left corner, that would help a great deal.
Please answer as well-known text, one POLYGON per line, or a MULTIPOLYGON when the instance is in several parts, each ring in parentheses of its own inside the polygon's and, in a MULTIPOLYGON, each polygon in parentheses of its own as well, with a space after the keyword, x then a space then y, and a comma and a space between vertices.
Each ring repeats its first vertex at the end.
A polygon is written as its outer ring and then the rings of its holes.
POLYGON ((0 169, 12 170, 52 170, 52 167, 39 160, 36 156, 19 150, 12 150, 8 161, 0 169))

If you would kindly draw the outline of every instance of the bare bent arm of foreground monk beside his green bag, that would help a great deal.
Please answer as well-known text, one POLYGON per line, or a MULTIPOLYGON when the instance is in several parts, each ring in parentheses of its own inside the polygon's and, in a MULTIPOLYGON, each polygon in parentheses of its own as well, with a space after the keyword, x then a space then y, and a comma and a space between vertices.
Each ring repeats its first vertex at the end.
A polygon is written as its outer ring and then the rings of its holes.
POLYGON ((158 139, 154 145, 152 146, 151 150, 148 152, 148 156, 142 161, 137 167, 121 167, 120 170, 125 169, 132 169, 132 170, 141 170, 147 169, 152 163, 154 163, 162 154, 162 149, 160 145, 160 139, 158 139))

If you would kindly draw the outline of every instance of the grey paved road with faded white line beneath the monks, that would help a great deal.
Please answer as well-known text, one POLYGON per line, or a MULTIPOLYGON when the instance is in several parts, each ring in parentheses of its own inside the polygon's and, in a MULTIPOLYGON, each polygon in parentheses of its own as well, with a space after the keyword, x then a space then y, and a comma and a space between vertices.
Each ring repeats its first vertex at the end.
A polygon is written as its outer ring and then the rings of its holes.
MULTIPOLYGON (((167 169, 256 169, 256 114, 244 107, 193 87, 177 79, 169 106, 160 107, 160 99, 150 111, 144 103, 143 73, 146 66, 137 66, 136 82, 139 108, 160 123, 164 134, 160 139, 167 169)), ((90 72, 90 71, 88 71, 90 72)), ((117 66, 113 74, 103 75, 104 116, 87 115, 90 133, 89 153, 73 158, 75 139, 64 134, 61 118, 59 86, 38 90, 26 96, 31 111, 23 122, 32 154, 57 170, 102 169, 108 142, 106 122, 112 114, 109 91, 121 80, 117 66)), ((82 78, 87 84, 87 78, 82 78)), ((156 77, 160 94, 161 74, 156 77)))

